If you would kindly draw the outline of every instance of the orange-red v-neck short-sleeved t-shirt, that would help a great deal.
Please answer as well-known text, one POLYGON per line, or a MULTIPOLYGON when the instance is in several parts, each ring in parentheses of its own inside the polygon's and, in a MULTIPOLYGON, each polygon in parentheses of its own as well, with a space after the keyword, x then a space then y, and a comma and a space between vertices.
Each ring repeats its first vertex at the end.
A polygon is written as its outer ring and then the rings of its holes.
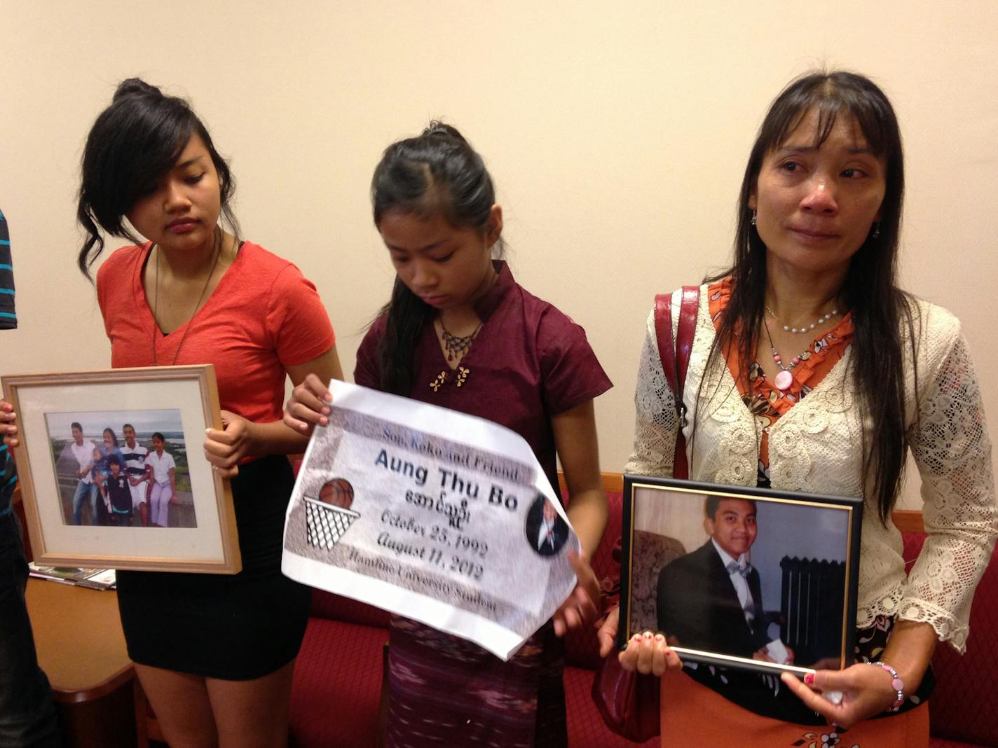
MULTIPOLYGON (((164 335, 142 284, 151 243, 115 251, 97 272, 111 365, 215 364, 224 410, 279 421, 285 369, 329 350, 335 335, 315 290, 291 262, 247 241, 205 305, 164 335)), ((192 303, 193 303, 192 299, 192 303)))

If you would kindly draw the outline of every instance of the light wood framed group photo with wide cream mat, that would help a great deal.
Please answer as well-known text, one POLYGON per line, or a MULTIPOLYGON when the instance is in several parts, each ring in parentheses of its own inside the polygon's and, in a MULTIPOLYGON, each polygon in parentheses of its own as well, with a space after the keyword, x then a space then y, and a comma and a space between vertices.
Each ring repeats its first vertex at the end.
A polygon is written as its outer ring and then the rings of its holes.
POLYGON ((205 430, 222 428, 215 368, 162 366, 3 377, 35 561, 236 573, 229 483, 205 430))

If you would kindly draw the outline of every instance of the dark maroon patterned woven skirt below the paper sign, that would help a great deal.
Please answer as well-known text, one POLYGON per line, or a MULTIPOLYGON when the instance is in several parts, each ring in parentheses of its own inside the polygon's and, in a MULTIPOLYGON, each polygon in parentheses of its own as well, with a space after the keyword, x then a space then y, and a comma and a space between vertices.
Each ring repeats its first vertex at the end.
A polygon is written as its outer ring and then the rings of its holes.
POLYGON ((388 748, 568 745, 564 644, 549 621, 503 662, 397 615, 388 635, 388 748))

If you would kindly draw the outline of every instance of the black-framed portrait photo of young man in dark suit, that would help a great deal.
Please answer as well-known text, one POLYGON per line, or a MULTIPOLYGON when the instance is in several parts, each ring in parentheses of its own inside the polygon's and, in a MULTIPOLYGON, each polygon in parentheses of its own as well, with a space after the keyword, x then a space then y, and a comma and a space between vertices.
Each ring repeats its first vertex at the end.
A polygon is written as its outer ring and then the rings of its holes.
POLYGON ((618 644, 802 674, 852 664, 862 500, 624 476, 618 644))

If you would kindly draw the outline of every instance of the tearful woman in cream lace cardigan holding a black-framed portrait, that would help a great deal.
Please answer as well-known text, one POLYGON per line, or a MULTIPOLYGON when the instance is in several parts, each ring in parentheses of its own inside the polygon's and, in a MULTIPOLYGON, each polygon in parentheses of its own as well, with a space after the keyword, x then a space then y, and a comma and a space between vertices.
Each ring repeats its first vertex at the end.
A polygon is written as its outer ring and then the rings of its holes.
MULTIPOLYGON (((903 191, 897 120, 868 79, 813 74, 773 102, 742 184, 735 261, 700 287, 682 428, 694 480, 864 497, 857 664, 803 683, 671 672, 663 745, 794 745, 826 721, 852 728, 849 745, 928 743, 929 660, 939 640, 964 648, 998 513, 960 324, 897 285, 903 191), (929 537, 906 576, 890 513, 909 451, 929 537)), ((681 426, 654 315, 636 403, 627 471, 671 475, 681 426)), ((605 655, 616 630, 614 611, 605 655)), ((679 670, 669 633, 636 635, 621 662, 679 670)))

